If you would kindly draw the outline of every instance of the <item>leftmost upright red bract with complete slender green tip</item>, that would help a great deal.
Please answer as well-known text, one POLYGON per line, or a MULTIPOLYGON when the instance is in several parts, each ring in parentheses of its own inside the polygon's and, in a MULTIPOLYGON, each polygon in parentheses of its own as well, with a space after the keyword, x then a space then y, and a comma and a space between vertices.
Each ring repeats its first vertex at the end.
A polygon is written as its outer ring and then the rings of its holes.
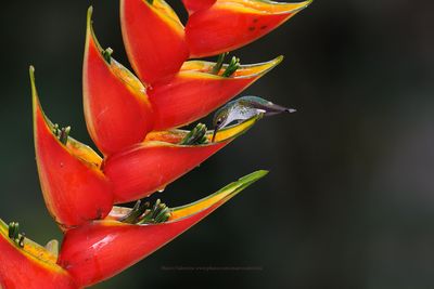
POLYGON ((112 188, 101 172, 102 159, 88 146, 69 137, 46 117, 30 67, 35 149, 43 199, 50 214, 64 228, 102 219, 113 206, 112 188))

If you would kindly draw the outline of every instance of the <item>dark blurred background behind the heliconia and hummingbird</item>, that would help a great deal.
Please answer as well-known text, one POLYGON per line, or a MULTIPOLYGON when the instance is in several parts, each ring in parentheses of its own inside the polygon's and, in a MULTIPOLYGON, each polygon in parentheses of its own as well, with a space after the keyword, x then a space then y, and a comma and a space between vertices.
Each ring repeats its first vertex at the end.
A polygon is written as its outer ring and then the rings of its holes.
MULTIPOLYGON (((0 215, 43 244, 61 234, 38 183, 27 69, 50 118, 91 143, 81 107, 90 4, 100 42, 128 65, 117 0, 2 3, 0 215)), ((174 207, 256 169, 270 174, 94 288, 432 288, 433 11, 430 0, 317 0, 237 51, 243 63, 285 55, 244 94, 298 113, 264 119, 161 197, 174 207)))

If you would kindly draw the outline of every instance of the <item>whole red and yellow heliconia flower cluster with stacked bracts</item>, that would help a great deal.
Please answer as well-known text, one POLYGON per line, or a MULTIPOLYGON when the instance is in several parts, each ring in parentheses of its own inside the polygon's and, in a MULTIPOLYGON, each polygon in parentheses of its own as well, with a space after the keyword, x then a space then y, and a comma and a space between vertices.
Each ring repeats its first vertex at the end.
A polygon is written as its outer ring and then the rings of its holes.
POLYGON ((44 115, 30 67, 36 159, 43 198, 64 232, 41 247, 0 220, 0 287, 84 288, 145 258, 263 178, 257 171, 193 203, 138 202, 197 167, 248 130, 257 118, 184 144, 191 123, 224 105, 282 57, 230 65, 189 61, 241 48, 268 34, 309 1, 183 0, 183 26, 164 0, 120 0, 120 23, 136 75, 103 49, 87 16, 82 69, 88 131, 102 153, 69 136, 44 115), (124 248, 124 249, 123 249, 124 248), (128 250, 125 250, 128 248, 128 250))

